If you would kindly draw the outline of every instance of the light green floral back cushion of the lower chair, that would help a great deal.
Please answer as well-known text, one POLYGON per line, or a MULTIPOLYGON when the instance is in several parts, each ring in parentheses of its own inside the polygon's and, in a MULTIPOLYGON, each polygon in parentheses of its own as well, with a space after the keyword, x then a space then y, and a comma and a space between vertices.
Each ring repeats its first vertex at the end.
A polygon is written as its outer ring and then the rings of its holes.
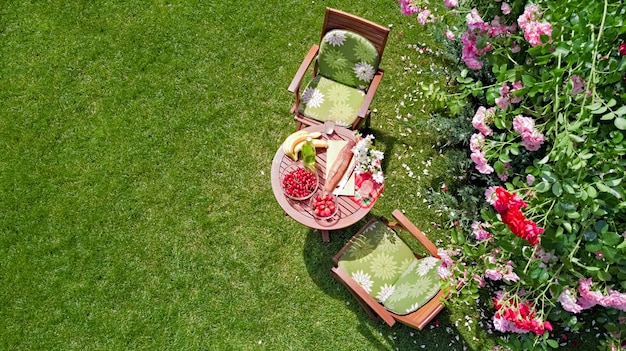
POLYGON ((441 279, 437 273, 440 265, 441 260, 435 257, 425 257, 413 262, 383 301, 385 308, 404 315, 430 301, 441 288, 441 279))

